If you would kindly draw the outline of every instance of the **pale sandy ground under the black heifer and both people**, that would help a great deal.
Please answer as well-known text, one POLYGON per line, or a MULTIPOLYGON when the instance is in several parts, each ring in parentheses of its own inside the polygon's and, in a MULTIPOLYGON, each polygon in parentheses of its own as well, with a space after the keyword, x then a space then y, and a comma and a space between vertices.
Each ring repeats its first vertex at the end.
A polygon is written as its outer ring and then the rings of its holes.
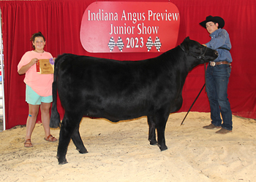
MULTIPOLYGON (((0 181, 256 181, 256 122, 233 116, 233 132, 203 129, 209 113, 170 114, 160 151, 148 142, 146 117, 117 124, 83 118, 80 135, 88 154, 72 142, 66 165, 58 165, 58 142, 44 141, 37 124, 23 147, 26 127, 0 132, 0 181)), ((59 129, 51 130, 59 138, 59 129)))

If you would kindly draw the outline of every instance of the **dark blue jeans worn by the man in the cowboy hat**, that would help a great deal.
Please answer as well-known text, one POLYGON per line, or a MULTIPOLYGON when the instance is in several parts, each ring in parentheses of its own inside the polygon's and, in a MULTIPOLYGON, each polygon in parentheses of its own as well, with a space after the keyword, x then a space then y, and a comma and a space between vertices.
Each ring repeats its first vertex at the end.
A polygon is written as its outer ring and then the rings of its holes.
POLYGON ((208 65, 206 71, 206 92, 211 108, 211 123, 217 127, 232 130, 232 112, 227 99, 227 84, 231 68, 229 65, 208 65), (220 117, 222 114, 222 119, 220 117))

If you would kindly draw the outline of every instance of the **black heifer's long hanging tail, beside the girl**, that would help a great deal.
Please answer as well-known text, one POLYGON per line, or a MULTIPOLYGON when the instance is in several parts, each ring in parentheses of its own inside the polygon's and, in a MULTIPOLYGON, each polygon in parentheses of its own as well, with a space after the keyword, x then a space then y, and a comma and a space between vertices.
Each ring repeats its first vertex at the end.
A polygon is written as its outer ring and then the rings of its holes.
POLYGON ((61 119, 59 117, 59 112, 57 110, 57 79, 59 72, 59 61, 60 56, 55 60, 54 63, 54 74, 53 74, 53 105, 51 108, 50 115, 50 127, 60 127, 61 119))

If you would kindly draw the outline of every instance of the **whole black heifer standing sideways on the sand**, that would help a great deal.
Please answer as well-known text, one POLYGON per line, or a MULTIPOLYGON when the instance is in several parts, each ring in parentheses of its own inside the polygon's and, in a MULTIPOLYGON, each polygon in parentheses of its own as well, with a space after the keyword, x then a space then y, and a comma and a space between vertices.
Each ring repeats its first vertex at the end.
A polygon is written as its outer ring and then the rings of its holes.
POLYGON ((187 74, 217 56, 217 51, 189 37, 157 58, 140 61, 60 55, 55 62, 50 116, 50 127, 58 127, 58 89, 65 110, 57 152, 59 164, 67 163, 70 138, 80 153, 87 152, 79 133, 83 116, 112 122, 147 116, 150 144, 158 144, 161 151, 166 150, 165 125, 169 114, 181 108, 181 92, 187 74))

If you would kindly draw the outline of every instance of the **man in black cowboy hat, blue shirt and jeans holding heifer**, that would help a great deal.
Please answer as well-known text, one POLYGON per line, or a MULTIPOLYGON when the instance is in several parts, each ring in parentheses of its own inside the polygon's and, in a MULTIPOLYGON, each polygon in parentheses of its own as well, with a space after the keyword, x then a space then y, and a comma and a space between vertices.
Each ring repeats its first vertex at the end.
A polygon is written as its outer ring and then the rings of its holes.
POLYGON ((221 128, 217 133, 232 132, 232 112, 227 99, 227 84, 231 72, 232 58, 230 55, 230 37, 225 29, 222 17, 208 16, 200 23, 210 33, 211 41, 203 44, 217 50, 219 56, 210 62, 206 71, 206 92, 211 108, 211 124, 204 126, 206 129, 221 128), (222 114, 222 119, 220 117, 222 114))

